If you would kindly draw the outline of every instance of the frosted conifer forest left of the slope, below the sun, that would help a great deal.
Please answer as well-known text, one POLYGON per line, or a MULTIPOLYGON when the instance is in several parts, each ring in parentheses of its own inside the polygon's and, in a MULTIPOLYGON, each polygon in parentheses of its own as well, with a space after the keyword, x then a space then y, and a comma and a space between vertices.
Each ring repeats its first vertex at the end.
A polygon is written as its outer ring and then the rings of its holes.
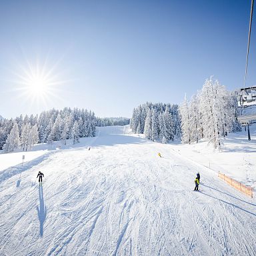
POLYGON ((15 119, 0 119, 0 149, 6 153, 21 147, 27 151, 37 143, 53 143, 67 139, 79 142, 79 137, 94 137, 95 114, 86 109, 51 109, 39 116, 27 115, 15 119))

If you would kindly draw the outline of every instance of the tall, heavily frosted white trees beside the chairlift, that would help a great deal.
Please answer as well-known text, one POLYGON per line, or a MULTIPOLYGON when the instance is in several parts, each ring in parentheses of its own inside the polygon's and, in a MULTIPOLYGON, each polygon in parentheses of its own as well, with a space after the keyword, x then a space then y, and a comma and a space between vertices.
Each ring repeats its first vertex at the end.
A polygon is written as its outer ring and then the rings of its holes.
POLYGON ((201 91, 185 98, 179 107, 183 143, 207 139, 215 148, 221 146, 221 137, 233 131, 241 131, 237 122, 237 97, 212 77, 207 79, 201 91))

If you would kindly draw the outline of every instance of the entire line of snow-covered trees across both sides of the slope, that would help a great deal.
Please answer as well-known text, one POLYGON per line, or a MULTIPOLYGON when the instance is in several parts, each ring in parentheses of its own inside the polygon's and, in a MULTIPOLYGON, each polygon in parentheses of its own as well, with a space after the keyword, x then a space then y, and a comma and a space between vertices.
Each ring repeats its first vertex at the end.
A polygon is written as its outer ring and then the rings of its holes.
POLYGON ((215 147, 221 146, 221 137, 241 131, 236 119, 237 97, 212 78, 203 88, 186 98, 180 106, 163 103, 145 103, 133 110, 131 120, 125 117, 99 118, 86 109, 64 108, 43 111, 40 115, 0 118, 0 149, 5 152, 21 148, 31 149, 37 143, 53 143, 67 139, 73 143, 80 137, 94 137, 96 126, 127 125, 133 133, 143 133, 147 139, 168 143, 181 139, 182 143, 207 139, 215 147))

